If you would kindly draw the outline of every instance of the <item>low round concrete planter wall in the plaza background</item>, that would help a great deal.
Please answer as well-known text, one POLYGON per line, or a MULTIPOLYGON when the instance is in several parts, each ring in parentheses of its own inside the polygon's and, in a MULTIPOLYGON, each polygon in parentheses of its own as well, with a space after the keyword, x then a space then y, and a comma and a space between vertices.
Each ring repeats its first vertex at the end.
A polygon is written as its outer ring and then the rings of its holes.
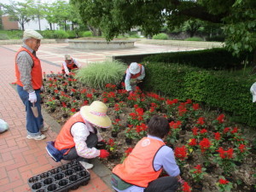
POLYGON ((134 47, 134 40, 78 40, 70 39, 68 44, 73 49, 126 49, 134 47))

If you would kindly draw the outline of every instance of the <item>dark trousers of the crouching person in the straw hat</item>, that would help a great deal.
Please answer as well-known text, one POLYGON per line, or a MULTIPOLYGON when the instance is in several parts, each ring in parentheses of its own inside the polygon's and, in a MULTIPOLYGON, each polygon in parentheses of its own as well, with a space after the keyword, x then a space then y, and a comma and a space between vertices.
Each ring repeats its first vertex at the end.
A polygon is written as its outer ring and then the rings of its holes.
MULTIPOLYGON (((87 144, 88 148, 95 148, 96 144, 98 143, 98 137, 95 133, 90 132, 90 135, 87 137, 85 143, 87 144)), ((65 154, 63 156, 62 160, 79 160, 79 161, 85 161, 88 162, 88 159, 85 159, 84 157, 80 157, 77 153, 76 147, 73 147, 70 149, 68 154, 65 154)))

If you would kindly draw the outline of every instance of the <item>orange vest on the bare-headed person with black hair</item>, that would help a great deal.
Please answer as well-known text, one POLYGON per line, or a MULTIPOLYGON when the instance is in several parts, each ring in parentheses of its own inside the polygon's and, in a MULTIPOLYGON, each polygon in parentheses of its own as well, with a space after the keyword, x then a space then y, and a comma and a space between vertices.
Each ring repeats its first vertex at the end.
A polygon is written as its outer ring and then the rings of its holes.
POLYGON ((113 168, 113 174, 126 183, 146 188, 160 176, 162 168, 154 170, 154 156, 164 146, 162 141, 143 137, 122 164, 113 168))

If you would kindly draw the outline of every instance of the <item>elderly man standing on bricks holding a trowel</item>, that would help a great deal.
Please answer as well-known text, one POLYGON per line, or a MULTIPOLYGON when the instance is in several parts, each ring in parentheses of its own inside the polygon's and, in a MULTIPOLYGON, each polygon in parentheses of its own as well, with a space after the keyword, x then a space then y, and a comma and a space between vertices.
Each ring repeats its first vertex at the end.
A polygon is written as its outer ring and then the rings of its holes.
POLYGON ((17 90, 26 107, 26 138, 34 140, 44 139, 41 131, 47 131, 40 106, 40 91, 44 90, 42 68, 36 55, 42 38, 38 32, 27 29, 23 33, 23 45, 15 56, 17 90), (38 114, 32 112, 32 107, 37 108, 38 114))

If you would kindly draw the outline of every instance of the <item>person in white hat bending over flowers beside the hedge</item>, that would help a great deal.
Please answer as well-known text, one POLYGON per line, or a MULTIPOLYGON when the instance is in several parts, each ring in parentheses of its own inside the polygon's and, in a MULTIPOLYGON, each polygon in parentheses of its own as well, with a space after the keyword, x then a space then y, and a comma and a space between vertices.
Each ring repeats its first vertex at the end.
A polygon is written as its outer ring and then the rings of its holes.
POLYGON ((125 81, 125 90, 132 93, 136 90, 136 86, 140 87, 145 78, 145 68, 142 64, 131 62, 131 65, 126 69, 125 76, 122 81, 125 81))

